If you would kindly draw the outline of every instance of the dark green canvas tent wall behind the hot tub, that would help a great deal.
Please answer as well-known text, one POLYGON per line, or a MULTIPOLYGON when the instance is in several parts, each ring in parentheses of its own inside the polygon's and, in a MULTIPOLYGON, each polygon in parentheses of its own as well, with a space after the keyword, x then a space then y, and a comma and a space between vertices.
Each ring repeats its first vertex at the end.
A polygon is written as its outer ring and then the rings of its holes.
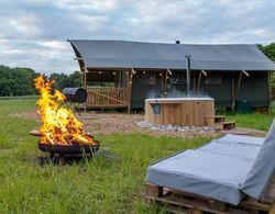
MULTIPOLYGON (((211 97, 215 99, 217 108, 232 106, 232 90, 237 90, 237 85, 241 71, 207 71, 207 76, 201 76, 198 95, 211 97), (218 77, 218 81, 217 81, 218 77), (212 80, 212 81, 211 81, 212 80), (234 88, 234 89, 233 89, 234 88)), ((163 97, 166 90, 168 97, 183 97, 186 94, 186 72, 184 70, 173 71, 172 77, 177 77, 178 81, 165 88, 162 86, 162 77, 157 71, 146 71, 146 75, 139 72, 133 78, 131 108, 144 108, 146 98, 163 97), (150 81, 150 76, 155 75, 155 82, 150 81)), ((250 77, 242 76, 237 101, 249 101, 252 108, 268 108, 268 72, 250 71, 250 77)), ((193 91, 197 87, 199 71, 191 75, 193 91)), ((237 91, 234 91, 237 93, 237 91)), ((194 92, 196 95, 196 93, 194 92)))

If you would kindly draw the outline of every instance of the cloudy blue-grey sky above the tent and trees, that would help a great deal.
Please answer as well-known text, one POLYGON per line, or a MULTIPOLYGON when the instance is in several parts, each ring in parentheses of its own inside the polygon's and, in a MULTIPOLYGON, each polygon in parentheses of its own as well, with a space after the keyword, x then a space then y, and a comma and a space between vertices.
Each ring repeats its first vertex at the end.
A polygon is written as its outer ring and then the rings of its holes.
POLYGON ((0 65, 79 70, 67 40, 275 42, 274 0, 0 0, 0 65))

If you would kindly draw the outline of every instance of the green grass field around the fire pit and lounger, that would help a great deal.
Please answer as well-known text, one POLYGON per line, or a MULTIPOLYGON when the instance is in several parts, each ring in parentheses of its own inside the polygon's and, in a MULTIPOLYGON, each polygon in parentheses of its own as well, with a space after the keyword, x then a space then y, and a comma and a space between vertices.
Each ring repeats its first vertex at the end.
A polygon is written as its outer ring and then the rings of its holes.
MULTIPOLYGON (((156 213, 144 202, 146 167, 162 157, 199 146, 209 138, 155 138, 148 135, 98 135, 101 154, 73 166, 41 167, 35 121, 13 113, 35 109, 34 100, 0 101, 0 213, 156 213)), ((274 114, 230 115, 240 124, 267 129, 274 114), (250 124, 251 123, 251 124, 250 124)), ((160 210, 158 210, 160 212, 160 210)))

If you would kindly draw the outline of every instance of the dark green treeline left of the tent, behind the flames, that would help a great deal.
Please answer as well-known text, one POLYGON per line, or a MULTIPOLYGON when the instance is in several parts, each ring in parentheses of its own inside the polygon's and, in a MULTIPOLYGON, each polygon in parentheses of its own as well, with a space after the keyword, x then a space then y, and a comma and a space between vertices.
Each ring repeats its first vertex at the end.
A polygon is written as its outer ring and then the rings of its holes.
MULTIPOLYGON (((0 97, 35 94, 34 79, 40 75, 30 68, 0 66, 0 97)), ((81 76, 77 71, 72 75, 52 74, 50 79, 55 80, 53 87, 58 90, 81 86, 81 76)))

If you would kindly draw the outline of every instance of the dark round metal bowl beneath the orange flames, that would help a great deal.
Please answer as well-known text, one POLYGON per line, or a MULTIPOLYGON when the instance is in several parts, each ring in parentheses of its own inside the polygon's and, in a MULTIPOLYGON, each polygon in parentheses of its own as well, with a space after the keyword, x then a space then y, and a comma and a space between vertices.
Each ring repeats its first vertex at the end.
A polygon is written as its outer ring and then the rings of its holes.
POLYGON ((50 153, 52 155, 85 155, 85 154, 94 154, 96 153, 100 144, 99 142, 95 142, 95 145, 52 145, 52 144, 42 144, 38 142, 38 148, 42 151, 50 153))

